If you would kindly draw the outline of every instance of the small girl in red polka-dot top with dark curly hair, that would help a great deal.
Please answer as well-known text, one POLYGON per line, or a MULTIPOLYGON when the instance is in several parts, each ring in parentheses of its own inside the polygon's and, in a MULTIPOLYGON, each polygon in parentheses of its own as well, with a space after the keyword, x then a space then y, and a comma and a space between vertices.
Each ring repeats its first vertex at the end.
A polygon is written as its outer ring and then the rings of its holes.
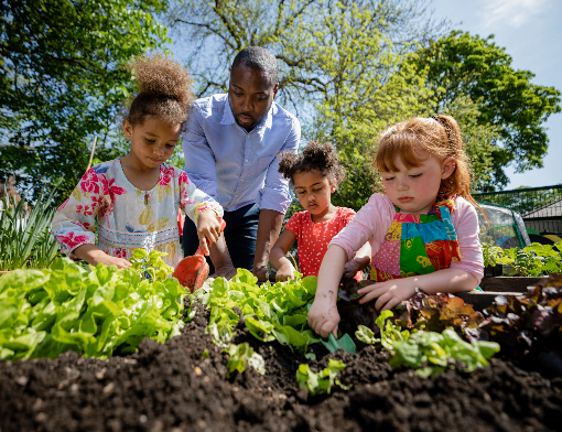
MULTIPOLYGON (((344 180, 345 171, 331 143, 311 141, 302 155, 285 152, 279 172, 291 181, 304 212, 294 214, 271 248, 270 263, 278 270, 275 280, 294 279, 294 268, 285 257, 298 240, 300 270, 303 276, 318 276, 320 264, 332 238, 355 216, 352 208, 332 205, 331 197, 344 180)), ((367 242, 347 262, 345 278, 361 280, 361 272, 370 262, 367 242)))

